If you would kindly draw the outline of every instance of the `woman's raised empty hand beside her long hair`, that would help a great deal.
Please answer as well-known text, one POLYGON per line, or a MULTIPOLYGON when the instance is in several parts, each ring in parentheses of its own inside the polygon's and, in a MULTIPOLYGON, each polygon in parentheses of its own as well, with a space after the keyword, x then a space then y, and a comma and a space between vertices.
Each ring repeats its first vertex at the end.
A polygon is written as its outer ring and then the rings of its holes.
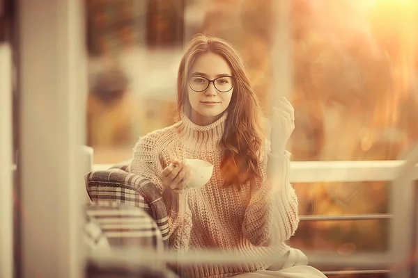
POLYGON ((284 154, 287 142, 295 130, 295 110, 292 104, 281 97, 272 111, 272 154, 284 154))

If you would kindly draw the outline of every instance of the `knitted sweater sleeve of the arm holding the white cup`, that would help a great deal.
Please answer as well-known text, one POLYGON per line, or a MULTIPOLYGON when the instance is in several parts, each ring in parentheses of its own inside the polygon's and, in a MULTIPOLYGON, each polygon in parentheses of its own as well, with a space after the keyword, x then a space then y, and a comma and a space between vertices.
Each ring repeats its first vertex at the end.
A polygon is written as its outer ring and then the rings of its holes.
POLYGON ((169 247, 173 250, 188 250, 192 229, 192 213, 187 204, 188 193, 176 193, 162 185, 162 147, 158 146, 160 136, 164 134, 149 133, 139 139, 134 147, 130 172, 152 182, 160 190, 169 217, 169 247))

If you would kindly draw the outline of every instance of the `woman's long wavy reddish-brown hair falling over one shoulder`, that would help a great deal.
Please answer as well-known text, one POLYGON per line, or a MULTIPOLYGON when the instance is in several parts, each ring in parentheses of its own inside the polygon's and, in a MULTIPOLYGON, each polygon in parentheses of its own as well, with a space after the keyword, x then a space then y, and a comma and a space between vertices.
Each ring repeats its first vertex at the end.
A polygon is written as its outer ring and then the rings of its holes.
POLYGON ((222 56, 229 63, 234 76, 234 86, 227 111, 224 133, 219 144, 222 147, 221 171, 225 186, 240 186, 249 182, 254 186, 261 178, 260 158, 264 136, 261 125, 261 108, 254 90, 249 85, 244 63, 231 44, 206 35, 195 35, 186 48, 178 68, 177 117, 189 107, 187 76, 199 55, 212 53, 222 56))

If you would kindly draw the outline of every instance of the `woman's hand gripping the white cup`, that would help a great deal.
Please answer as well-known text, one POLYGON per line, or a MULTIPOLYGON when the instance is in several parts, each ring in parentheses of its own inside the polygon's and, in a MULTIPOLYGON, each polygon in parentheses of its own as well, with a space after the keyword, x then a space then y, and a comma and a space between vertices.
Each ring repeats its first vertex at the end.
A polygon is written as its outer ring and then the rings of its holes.
POLYGON ((175 191, 183 191, 192 180, 192 170, 185 161, 173 159, 160 175, 162 185, 175 191))

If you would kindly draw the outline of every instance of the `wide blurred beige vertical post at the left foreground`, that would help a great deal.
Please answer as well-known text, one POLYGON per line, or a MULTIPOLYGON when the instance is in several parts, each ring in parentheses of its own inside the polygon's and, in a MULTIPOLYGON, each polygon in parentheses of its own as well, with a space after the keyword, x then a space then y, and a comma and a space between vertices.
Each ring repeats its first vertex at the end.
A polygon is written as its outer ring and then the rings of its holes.
POLYGON ((82 277, 84 1, 21 0, 18 10, 22 277, 82 277))

